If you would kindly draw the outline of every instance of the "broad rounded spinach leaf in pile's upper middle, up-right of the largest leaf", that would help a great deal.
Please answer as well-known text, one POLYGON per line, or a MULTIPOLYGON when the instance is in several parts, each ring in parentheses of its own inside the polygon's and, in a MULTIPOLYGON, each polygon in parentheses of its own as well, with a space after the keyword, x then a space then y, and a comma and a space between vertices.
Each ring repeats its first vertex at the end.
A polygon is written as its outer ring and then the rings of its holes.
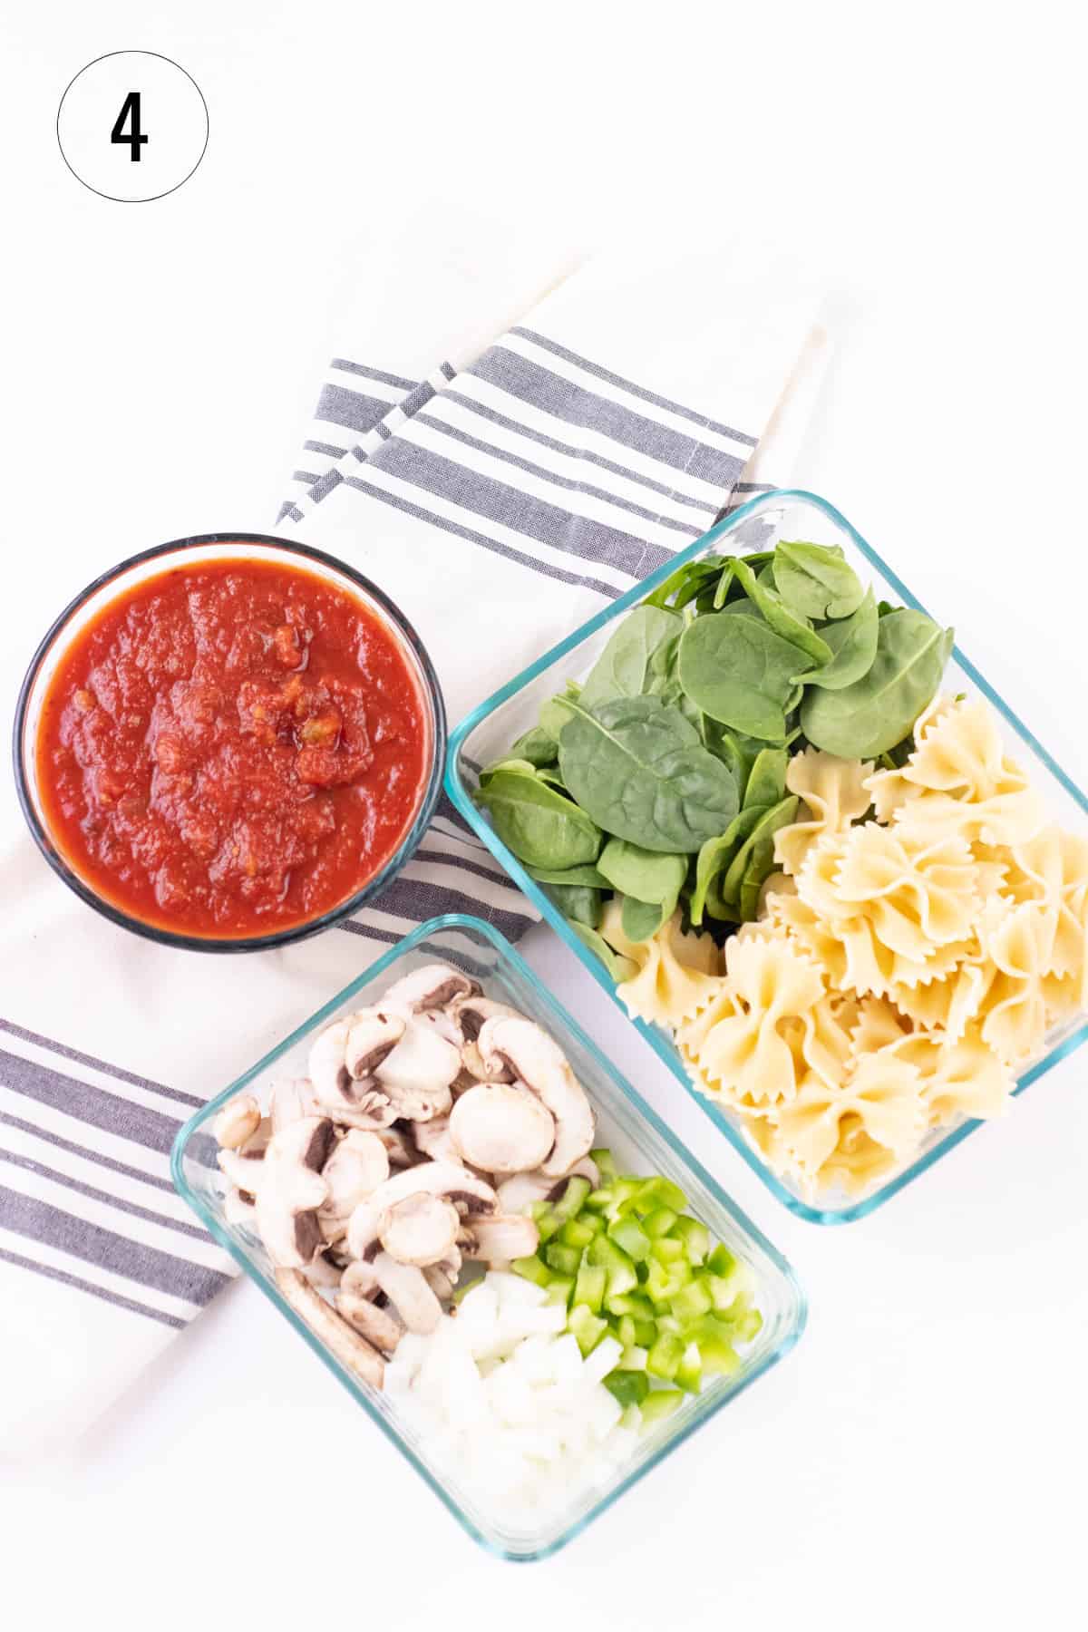
POLYGON ((781 743, 794 676, 807 658, 745 612, 695 619, 680 636, 680 684, 711 720, 781 743))

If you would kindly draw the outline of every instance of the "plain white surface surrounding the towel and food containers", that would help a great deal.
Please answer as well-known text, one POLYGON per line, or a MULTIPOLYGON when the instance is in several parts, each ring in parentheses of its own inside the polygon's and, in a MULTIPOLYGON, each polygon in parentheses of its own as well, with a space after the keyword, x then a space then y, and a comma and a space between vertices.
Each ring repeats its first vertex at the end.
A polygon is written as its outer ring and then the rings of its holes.
MULTIPOLYGON (((5 713, 93 573, 272 521, 365 235, 437 193, 566 212, 587 240, 726 219, 799 248, 842 326, 794 477, 1083 785, 1085 132, 1064 10, 7 8, 5 713), (201 170, 153 204, 95 197, 55 145, 67 82, 124 47, 176 57, 210 111, 201 170)), ((524 1570, 476 1552, 237 1286, 70 1459, 0 1470, 3 1621, 33 1603, 33 1627, 124 1632, 1081 1625, 1085 1062, 873 1219, 819 1231, 546 932, 530 958, 798 1266, 801 1346, 524 1570)), ((103 1002, 122 1027, 124 994, 103 1002)))

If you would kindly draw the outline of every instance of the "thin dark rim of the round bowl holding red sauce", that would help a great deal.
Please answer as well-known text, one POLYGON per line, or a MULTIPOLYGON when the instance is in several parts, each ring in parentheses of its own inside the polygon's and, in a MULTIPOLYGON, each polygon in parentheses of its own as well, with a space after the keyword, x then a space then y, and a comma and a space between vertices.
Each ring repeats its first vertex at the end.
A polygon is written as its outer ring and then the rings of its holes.
MULTIPOLYGON (((91 189, 93 191, 93 189, 91 189)), ((134 201, 135 202, 135 201, 134 201)), ((299 940, 308 940, 312 935, 320 935, 323 930, 331 929, 343 919, 351 917, 360 907, 367 906, 370 901, 377 901, 387 889, 388 885, 401 873, 405 865, 411 862, 413 855, 422 842, 422 836, 431 826, 431 818, 437 808, 439 798, 442 795, 442 775, 445 772, 445 754, 449 744, 449 725, 445 718, 445 698, 442 695, 442 685, 434 671, 431 661, 431 653, 424 646, 414 625, 405 617, 398 604, 391 596, 387 596, 383 589, 367 578, 365 573, 357 571, 343 561, 336 555, 329 555, 326 550, 316 550, 312 543, 302 543, 299 539, 281 539, 271 532, 197 532, 189 534, 186 539, 171 539, 168 543, 155 543, 150 550, 140 550, 137 555, 129 555, 124 561, 117 561, 116 566, 108 568, 108 571, 100 573, 93 583, 86 584, 85 589, 78 592, 67 607, 57 614, 54 622, 49 625, 38 650, 34 651, 26 674, 23 676, 23 684, 20 685, 20 695, 15 705, 15 720, 11 723, 11 765, 15 770, 15 792, 23 811, 23 819, 29 827, 31 837, 42 857, 57 875, 57 878, 69 886, 69 889, 80 898, 88 907, 101 917, 109 919, 119 929, 127 929, 134 935, 142 935, 145 940, 153 940, 160 947, 176 947, 184 951, 209 951, 209 953, 240 953, 240 951, 269 951, 277 947, 290 947, 299 940), (163 929, 158 924, 150 924, 145 919, 139 919, 124 907, 117 907, 106 896, 100 896, 75 870, 75 865, 67 860, 60 847, 54 844, 46 823, 39 818, 34 800, 29 792, 29 778, 26 774, 26 716, 29 712, 31 694, 38 672, 49 656, 52 645, 60 638, 67 628, 69 619, 80 610, 80 607, 100 589, 108 588, 117 578, 122 578, 134 566, 142 566, 145 561, 153 561, 158 557, 178 553, 181 550, 194 550, 202 543, 261 543, 282 550, 287 555, 303 557, 305 560, 316 561, 321 566, 331 566, 334 571, 341 573, 344 578, 357 584, 364 596, 369 596, 378 604, 382 612, 385 612, 388 622, 393 625, 395 633, 400 636, 401 645, 406 646, 416 663, 418 676, 422 682, 422 690, 427 703, 431 705, 431 731, 432 731, 432 757, 427 769, 427 775, 422 783, 422 793, 416 813, 411 819, 411 826, 405 832, 400 845, 390 855, 382 868, 369 878, 352 896, 346 901, 339 901, 336 906, 328 907, 318 917, 303 919, 302 924, 289 925, 287 929, 269 930, 266 935, 238 935, 235 938, 214 937, 214 935, 186 935, 181 930, 163 929)))

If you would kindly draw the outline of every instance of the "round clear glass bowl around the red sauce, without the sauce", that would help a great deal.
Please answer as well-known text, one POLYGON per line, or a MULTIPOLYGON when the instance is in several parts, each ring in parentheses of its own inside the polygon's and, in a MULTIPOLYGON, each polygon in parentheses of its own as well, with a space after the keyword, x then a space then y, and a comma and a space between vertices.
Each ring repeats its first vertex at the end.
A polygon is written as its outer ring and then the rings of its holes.
POLYGON ((160 543, 153 550, 144 550, 119 566, 103 573, 93 584, 75 597, 64 609, 52 628, 44 636, 38 651, 31 658, 26 679, 23 681, 18 705, 15 710, 13 733, 15 785, 26 818, 26 824, 34 836, 38 849, 46 857, 54 873, 65 881, 80 901, 85 901, 103 917, 122 929, 130 929, 137 935, 157 940, 165 947, 188 947, 192 951, 261 951, 266 947, 287 947, 292 942, 316 935, 331 924, 349 917, 374 901, 387 885, 401 871, 405 863, 416 852, 419 840, 434 814, 442 790, 442 767, 445 761, 445 707, 442 692, 427 651, 414 628, 388 596, 377 584, 372 584, 362 573, 356 573, 344 561, 338 561, 321 550, 312 550, 305 543, 287 539, 276 539, 261 532, 201 534, 192 539, 178 539, 173 543, 160 543), (70 643, 91 623, 98 614, 113 601, 130 591, 135 584, 148 578, 157 578, 170 568, 196 566, 207 561, 281 561, 287 566, 305 570, 331 588, 362 602, 367 612, 375 617, 398 646, 409 674, 416 682, 419 712, 427 733, 424 747, 424 777, 419 785, 419 801, 396 850, 383 867, 367 880, 352 896, 339 901, 334 907, 316 917, 305 919, 285 929, 271 930, 266 935, 194 935, 171 930, 161 924, 139 919, 104 896, 95 885, 80 875, 77 863, 65 854, 57 839, 51 834, 46 803, 38 782, 38 730, 42 705, 49 695, 52 679, 59 663, 64 659, 70 643))

